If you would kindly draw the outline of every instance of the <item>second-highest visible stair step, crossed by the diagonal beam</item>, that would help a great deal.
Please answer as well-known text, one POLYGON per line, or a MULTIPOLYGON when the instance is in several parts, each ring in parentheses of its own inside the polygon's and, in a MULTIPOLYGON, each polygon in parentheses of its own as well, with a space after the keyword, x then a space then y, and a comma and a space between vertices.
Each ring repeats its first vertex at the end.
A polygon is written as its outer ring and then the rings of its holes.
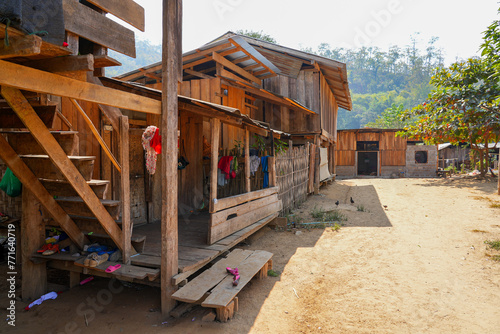
MULTIPOLYGON (((61 145, 66 155, 78 154, 78 132, 76 131, 51 131, 55 140, 61 145)), ((19 155, 47 154, 28 131, 2 131, 7 140, 19 155)))

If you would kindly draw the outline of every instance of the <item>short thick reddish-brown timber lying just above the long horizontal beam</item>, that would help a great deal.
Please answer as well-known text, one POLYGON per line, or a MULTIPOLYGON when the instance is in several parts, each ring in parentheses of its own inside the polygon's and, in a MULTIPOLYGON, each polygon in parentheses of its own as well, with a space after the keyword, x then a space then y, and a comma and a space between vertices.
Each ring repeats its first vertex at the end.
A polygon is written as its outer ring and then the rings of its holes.
POLYGON ((46 72, 74 72, 74 71, 93 71, 94 56, 91 54, 85 56, 66 56, 51 59, 32 60, 23 63, 23 66, 36 68, 46 72))

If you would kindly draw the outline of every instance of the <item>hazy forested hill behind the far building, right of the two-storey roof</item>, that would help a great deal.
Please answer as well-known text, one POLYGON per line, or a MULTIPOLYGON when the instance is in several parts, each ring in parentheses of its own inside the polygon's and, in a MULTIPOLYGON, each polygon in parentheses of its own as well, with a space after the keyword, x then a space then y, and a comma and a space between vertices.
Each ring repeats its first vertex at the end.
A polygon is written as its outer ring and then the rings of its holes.
POLYGON ((407 109, 427 98, 434 69, 444 62, 436 40, 430 40, 425 50, 419 50, 412 40, 410 46, 393 46, 387 51, 376 47, 332 48, 328 44, 304 51, 347 64, 353 110, 339 110, 338 128, 358 129, 375 122, 393 104, 407 109))

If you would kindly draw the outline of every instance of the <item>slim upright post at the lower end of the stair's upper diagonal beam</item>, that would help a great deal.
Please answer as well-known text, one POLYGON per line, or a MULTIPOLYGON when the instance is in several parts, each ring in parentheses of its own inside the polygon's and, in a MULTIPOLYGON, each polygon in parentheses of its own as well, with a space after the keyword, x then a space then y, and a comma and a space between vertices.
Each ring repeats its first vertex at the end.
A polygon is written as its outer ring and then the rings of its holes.
POLYGON ((122 231, 123 231, 123 263, 129 264, 131 252, 132 222, 130 220, 130 146, 129 146, 129 124, 128 117, 120 117, 120 165, 121 165, 121 207, 122 207, 122 231))

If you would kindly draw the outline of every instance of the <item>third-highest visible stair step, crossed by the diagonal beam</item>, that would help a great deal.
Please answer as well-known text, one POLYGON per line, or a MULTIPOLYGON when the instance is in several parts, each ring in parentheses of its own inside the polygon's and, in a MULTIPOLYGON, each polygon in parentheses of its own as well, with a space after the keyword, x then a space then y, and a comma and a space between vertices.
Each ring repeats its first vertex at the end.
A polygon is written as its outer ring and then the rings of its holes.
MULTIPOLYGON (((65 180, 63 174, 54 166, 48 155, 20 155, 29 169, 38 178, 50 180, 65 180)), ((92 179, 95 157, 68 156, 86 181, 92 179)))

